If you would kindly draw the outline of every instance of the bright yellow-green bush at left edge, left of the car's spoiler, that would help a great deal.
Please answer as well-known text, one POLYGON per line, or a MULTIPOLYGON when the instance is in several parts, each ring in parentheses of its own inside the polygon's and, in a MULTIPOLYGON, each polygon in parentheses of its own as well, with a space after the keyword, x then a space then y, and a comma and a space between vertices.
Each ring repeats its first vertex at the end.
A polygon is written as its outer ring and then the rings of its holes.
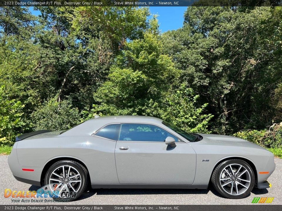
POLYGON ((24 105, 20 101, 9 100, 4 89, 4 86, 0 87, 0 145, 11 146, 21 127, 25 125, 21 121, 21 109, 24 105))

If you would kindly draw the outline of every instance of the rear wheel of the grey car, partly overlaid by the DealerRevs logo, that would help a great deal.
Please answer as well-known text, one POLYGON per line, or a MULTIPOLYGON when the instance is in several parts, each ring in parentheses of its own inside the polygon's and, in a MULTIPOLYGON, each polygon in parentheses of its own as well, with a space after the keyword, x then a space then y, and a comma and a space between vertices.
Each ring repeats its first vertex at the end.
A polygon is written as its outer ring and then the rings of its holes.
POLYGON ((53 199, 76 200, 88 185, 88 171, 76 161, 58 161, 48 169, 45 185, 58 195, 53 199))

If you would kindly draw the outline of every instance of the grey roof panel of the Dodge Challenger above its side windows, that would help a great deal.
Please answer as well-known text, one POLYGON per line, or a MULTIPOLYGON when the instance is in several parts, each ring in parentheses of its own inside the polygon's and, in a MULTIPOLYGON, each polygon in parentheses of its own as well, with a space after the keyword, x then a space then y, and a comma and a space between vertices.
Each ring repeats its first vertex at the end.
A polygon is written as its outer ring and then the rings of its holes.
MULTIPOLYGON (((106 121, 113 121, 113 122, 140 122, 140 121, 146 121, 146 122, 162 122, 163 120, 156 118, 156 117, 150 117, 150 116, 133 116, 133 115, 119 115, 119 116, 103 116, 98 118, 90 119, 90 121, 96 121, 96 120, 106 120, 106 121)), ((89 120, 88 120, 89 121, 89 120)))

